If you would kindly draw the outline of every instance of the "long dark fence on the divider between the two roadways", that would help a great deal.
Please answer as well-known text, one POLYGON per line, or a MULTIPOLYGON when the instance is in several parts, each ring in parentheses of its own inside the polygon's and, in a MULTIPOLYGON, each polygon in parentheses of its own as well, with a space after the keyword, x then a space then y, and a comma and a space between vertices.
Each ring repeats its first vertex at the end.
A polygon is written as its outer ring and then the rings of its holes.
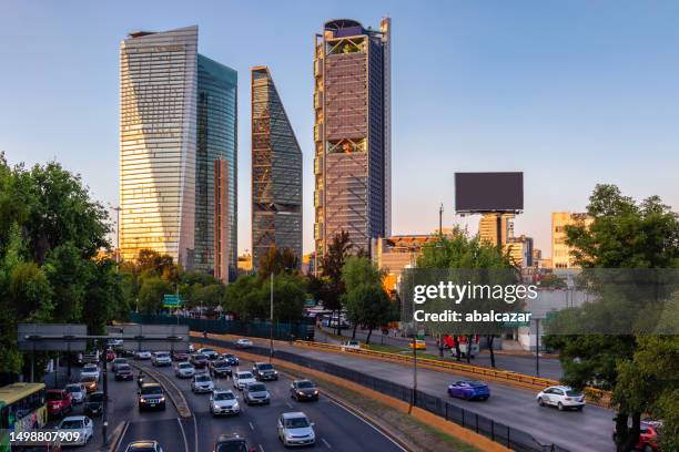
MULTIPOLYGON (((220 339, 201 339, 201 342, 224 348, 235 348, 232 342, 220 339)), ((267 357, 270 349, 266 347, 252 347, 247 349, 247 352, 267 357)), ((320 361, 283 350, 276 350, 274 352, 274 357, 308 369, 349 380, 405 402, 411 402, 413 400, 412 388, 368 376, 355 369, 348 369, 332 362, 320 361)), ((543 444, 523 430, 496 422, 490 418, 466 410, 448 402, 447 400, 425 393, 423 391, 415 392, 415 405, 439 415, 447 421, 455 422, 458 425, 474 430, 476 433, 483 434, 484 436, 487 436, 490 440, 506 445, 507 448, 517 452, 568 452, 567 449, 564 449, 557 444, 543 444)))

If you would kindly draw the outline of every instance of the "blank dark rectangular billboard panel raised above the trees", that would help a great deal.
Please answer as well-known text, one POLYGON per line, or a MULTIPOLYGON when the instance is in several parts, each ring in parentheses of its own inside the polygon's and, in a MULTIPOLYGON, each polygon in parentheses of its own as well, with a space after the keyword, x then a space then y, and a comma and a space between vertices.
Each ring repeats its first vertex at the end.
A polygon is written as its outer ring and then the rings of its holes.
POLYGON ((524 209, 524 173, 455 173, 455 210, 524 209))

